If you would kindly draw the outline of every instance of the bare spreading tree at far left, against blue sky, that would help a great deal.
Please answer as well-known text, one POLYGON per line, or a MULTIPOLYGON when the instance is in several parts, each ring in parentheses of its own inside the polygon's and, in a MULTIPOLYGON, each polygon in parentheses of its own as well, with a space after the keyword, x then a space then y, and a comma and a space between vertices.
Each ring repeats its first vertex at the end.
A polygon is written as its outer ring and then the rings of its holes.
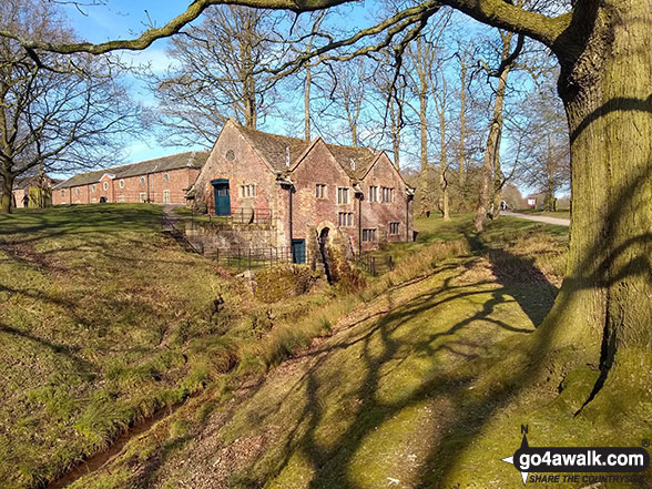
MULTIPOLYGON (((47 1, 8 0, 0 6, 0 19, 34 39, 74 39, 47 1), (33 16, 34 9, 42 16, 33 16)), ((137 122, 139 108, 106 57, 38 55, 54 70, 43 69, 14 40, 0 39, 0 212, 10 212, 13 182, 20 175, 115 162, 121 136, 137 122)))

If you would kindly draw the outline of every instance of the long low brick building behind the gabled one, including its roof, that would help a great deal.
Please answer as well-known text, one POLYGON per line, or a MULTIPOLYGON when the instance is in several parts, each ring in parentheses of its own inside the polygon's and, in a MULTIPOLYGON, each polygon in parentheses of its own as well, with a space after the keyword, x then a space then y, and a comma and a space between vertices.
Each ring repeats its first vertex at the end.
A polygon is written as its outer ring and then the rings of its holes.
POLYGON ((200 174, 207 152, 186 152, 140 163, 81 173, 55 185, 52 202, 151 202, 185 204, 185 192, 200 174))

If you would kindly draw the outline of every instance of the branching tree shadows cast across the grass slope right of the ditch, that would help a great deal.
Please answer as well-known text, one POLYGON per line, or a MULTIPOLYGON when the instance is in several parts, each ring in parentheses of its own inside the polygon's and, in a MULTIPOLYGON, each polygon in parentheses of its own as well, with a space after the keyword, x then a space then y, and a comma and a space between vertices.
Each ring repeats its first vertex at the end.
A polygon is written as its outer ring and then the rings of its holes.
MULTIPOLYGON (((404 409, 437 397, 446 397, 452 401, 455 416, 438 420, 438 424, 444 426, 442 432, 450 431, 451 435, 444 436, 435 444, 432 454, 439 454, 434 456, 437 459, 434 460, 435 466, 439 463, 441 454, 455 450, 456 446, 460 445, 460 439, 466 440, 465 437, 472 436, 483 426, 485 420, 496 407, 509 398, 510 389, 492 393, 490 396, 478 399, 469 391, 469 386, 482 377, 481 371, 469 374, 466 369, 458 373, 444 366, 439 368, 435 359, 439 354, 446 353, 460 361, 469 361, 487 354, 492 345, 485 345, 481 338, 473 336, 478 327, 498 328, 497 330, 516 335, 529 335, 533 329, 513 327, 492 317, 498 306, 513 300, 505 288, 492 289, 487 282, 472 284, 472 286, 455 285, 451 283, 452 279, 452 276, 446 278, 440 287, 412 297, 405 304, 396 306, 390 304, 388 309, 383 312, 386 314, 380 317, 374 315, 365 318, 364 320, 370 322, 370 325, 356 325, 363 330, 354 337, 306 354, 314 357, 313 364, 289 390, 289 393, 305 391, 302 412, 297 417, 296 425, 288 429, 283 440, 284 459, 277 467, 287 467, 295 451, 300 450, 315 469, 309 488, 356 488, 358 483, 352 478, 352 465, 365 440, 378 427, 391 420, 404 409), (489 297, 481 303, 479 310, 455 322, 446 329, 430 335, 418 335, 418 340, 412 340, 409 335, 406 337, 399 332, 401 327, 418 316, 424 317, 429 310, 441 308, 454 300, 463 302, 482 294, 489 297), (319 369, 329 361, 333 352, 354 346, 361 349, 359 361, 364 363, 365 371, 364 378, 359 381, 359 388, 350 395, 360 400, 359 407, 353 414, 348 428, 336 440, 324 444, 319 441, 317 432, 323 429, 323 422, 326 420, 327 396, 333 387, 319 378, 319 369), (473 352, 469 353, 469 349, 473 352), (383 379, 400 368, 404 361, 412 356, 432 358, 432 374, 424 378, 414 390, 406 391, 405 396, 396 400, 381 400, 379 390, 383 379)), ((265 412, 258 412, 256 419, 252 419, 253 424, 263 425, 266 414, 274 412, 287 399, 284 398, 265 412)), ((266 477, 274 477, 274 473, 266 477)), ((424 481, 429 477, 424 475, 424 481)), ((238 487, 254 488, 264 483, 264 480, 256 477, 238 477, 238 487)), ((438 485, 432 481, 432 485, 427 487, 438 487, 438 485)))

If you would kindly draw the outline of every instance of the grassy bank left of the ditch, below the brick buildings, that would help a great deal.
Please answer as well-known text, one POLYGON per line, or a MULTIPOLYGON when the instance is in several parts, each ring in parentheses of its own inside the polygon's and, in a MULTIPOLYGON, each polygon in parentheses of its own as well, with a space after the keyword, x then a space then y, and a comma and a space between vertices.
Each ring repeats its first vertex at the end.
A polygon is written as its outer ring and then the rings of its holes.
POLYGON ((147 204, 0 215, 0 487, 52 480, 234 366, 277 361, 303 337, 258 338, 328 298, 259 304, 161 221, 147 204))

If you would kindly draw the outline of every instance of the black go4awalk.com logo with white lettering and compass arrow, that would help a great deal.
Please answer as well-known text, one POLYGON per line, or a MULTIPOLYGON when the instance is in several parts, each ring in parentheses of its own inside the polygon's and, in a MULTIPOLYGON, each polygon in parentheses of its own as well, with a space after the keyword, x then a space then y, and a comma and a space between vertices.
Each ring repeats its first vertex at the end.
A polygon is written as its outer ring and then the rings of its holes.
MULTIPOLYGON (((636 472, 642 472, 650 465, 650 455, 644 448, 530 447, 527 437, 528 426, 521 425, 521 432, 523 440, 520 448, 502 461, 513 465, 521 472, 523 485, 527 482, 640 483, 643 481, 643 476, 636 472)), ((650 444, 645 440, 643 445, 650 444)))

